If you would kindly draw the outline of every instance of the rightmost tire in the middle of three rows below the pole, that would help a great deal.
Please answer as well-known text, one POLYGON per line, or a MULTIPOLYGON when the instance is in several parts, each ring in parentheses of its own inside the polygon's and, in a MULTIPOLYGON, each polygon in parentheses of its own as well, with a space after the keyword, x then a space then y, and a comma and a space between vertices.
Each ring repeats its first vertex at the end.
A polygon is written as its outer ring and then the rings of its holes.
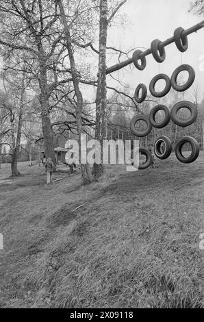
POLYGON ((198 115, 198 111, 196 109, 196 106, 194 105, 194 103, 190 101, 180 101, 176 103, 175 106, 173 106, 172 110, 170 111, 170 118, 172 119, 173 123, 183 127, 194 123, 194 121, 196 121, 197 115, 198 115), (179 117, 177 116, 177 113, 180 110, 180 108, 188 108, 188 110, 190 110, 190 117, 188 119, 186 120, 179 119, 179 117))

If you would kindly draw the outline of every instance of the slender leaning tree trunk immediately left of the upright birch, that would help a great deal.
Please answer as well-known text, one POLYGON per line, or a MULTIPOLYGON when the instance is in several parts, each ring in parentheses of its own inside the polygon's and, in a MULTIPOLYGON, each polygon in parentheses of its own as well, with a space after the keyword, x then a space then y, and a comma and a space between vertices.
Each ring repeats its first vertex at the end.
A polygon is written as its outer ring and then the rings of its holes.
MULTIPOLYGON (((71 44, 71 34, 70 34, 68 24, 66 21, 64 7, 62 5, 61 0, 56 0, 56 3, 58 3, 59 9, 60 9, 60 15, 62 17, 62 23, 64 25, 64 34, 66 36, 66 47, 67 47, 68 57, 69 57, 70 65, 71 65, 71 74, 73 77, 73 85, 74 85, 75 94, 77 97, 76 123, 77 123, 77 132, 79 134, 79 156, 80 156, 80 153, 81 153, 81 133, 82 133, 81 111, 83 108, 83 97, 82 97, 81 91, 79 89, 79 78, 77 75, 77 69, 75 66, 75 58, 74 58, 72 44, 71 44)), ((79 157, 79 160, 81 162, 81 157, 79 157)), ((91 174, 88 164, 81 164, 81 173, 82 173, 82 179, 83 179, 84 183, 92 182, 93 178, 92 178, 92 174, 91 174)))

